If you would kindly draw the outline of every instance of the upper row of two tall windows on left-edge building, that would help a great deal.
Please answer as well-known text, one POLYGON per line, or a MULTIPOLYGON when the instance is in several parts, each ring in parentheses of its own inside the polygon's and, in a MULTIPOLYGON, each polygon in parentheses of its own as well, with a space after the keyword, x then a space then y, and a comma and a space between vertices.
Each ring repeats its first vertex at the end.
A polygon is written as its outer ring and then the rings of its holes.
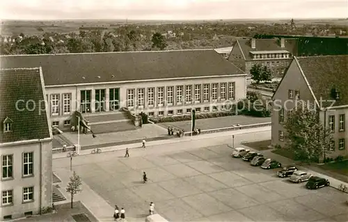
MULTIPOLYGON (((2 180, 13 179, 13 154, 2 156, 2 180)), ((33 175, 33 152, 24 152, 22 154, 22 176, 29 177, 33 175)))

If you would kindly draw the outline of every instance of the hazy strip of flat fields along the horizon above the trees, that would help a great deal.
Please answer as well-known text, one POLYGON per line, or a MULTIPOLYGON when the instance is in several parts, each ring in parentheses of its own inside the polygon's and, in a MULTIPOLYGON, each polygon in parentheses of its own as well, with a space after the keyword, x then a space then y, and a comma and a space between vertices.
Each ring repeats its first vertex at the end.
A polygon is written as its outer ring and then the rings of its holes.
MULTIPOLYGON (((45 32, 71 33, 78 32, 80 26, 97 26, 104 29, 115 29, 120 24, 164 25, 164 24, 197 24, 197 23, 230 23, 230 24, 274 24, 287 23, 290 19, 220 19, 220 20, 126 20, 126 19, 90 19, 90 20, 52 20, 26 21, 8 20, 1 22, 1 35, 40 35, 45 32)), ((295 19, 296 24, 334 24, 347 25, 347 19, 295 19)))

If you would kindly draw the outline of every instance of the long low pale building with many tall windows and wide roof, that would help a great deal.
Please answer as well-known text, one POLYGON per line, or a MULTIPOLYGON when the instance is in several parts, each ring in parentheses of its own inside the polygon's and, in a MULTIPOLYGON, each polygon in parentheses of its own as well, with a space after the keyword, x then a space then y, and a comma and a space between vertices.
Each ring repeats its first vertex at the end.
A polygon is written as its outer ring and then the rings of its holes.
POLYGON ((246 97, 246 74, 213 49, 1 56, 6 68, 41 67, 51 125, 127 108, 165 117, 226 111, 246 97))

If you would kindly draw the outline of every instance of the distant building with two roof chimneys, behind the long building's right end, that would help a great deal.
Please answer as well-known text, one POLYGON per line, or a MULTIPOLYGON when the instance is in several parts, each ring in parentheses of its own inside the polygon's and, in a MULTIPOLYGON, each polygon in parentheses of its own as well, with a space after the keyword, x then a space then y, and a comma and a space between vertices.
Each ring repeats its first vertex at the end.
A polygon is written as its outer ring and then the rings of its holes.
POLYGON ((228 61, 250 73, 259 63, 270 68, 274 77, 282 77, 285 69, 296 55, 296 39, 242 39, 236 40, 228 61))

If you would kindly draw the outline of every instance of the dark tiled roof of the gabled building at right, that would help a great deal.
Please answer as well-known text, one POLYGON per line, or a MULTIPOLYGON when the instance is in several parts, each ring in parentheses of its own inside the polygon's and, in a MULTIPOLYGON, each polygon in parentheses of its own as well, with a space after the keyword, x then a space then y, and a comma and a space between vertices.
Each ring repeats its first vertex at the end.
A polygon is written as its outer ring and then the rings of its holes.
MULTIPOLYGON (((296 57, 318 102, 335 100, 333 88, 340 92, 334 106, 348 105, 348 55, 296 57)), ((319 102, 320 103, 320 102, 319 102)), ((326 102, 323 106, 329 106, 326 102)))

